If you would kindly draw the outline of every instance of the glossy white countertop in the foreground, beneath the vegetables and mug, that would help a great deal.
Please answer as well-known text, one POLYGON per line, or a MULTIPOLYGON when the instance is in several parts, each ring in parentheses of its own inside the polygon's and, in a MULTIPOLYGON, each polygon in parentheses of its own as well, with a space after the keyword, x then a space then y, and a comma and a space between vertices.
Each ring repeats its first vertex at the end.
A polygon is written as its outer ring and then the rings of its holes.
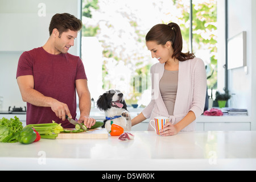
POLYGON ((134 140, 41 139, 0 143, 0 170, 255 170, 256 131, 195 131, 134 140))

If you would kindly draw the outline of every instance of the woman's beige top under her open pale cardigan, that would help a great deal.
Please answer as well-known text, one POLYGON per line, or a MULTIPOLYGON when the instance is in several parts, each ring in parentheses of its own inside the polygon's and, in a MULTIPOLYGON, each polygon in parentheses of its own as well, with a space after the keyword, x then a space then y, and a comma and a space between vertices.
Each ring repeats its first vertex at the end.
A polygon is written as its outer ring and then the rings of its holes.
POLYGON ((164 69, 163 77, 159 83, 160 93, 169 115, 174 115, 178 75, 179 71, 164 69))

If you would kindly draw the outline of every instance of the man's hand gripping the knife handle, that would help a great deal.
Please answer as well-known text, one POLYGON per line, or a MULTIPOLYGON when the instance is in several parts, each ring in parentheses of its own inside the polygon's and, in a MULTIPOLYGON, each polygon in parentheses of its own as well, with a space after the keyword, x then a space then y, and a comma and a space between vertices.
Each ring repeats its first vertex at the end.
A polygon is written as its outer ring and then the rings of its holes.
POLYGON ((69 118, 72 118, 70 111, 68 109, 68 105, 64 104, 63 102, 53 100, 51 104, 51 109, 57 117, 62 119, 62 121, 65 121, 66 115, 68 115, 69 118))

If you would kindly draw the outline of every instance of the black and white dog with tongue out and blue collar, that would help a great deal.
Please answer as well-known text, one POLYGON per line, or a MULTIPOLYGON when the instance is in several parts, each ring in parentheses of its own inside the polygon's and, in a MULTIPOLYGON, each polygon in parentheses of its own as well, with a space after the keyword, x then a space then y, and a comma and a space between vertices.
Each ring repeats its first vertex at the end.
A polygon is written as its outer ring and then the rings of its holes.
POLYGON ((119 90, 108 90, 97 101, 98 109, 105 111, 106 119, 104 125, 106 130, 110 131, 111 121, 116 125, 123 127, 123 130, 131 130, 131 117, 127 110, 123 93, 119 90))

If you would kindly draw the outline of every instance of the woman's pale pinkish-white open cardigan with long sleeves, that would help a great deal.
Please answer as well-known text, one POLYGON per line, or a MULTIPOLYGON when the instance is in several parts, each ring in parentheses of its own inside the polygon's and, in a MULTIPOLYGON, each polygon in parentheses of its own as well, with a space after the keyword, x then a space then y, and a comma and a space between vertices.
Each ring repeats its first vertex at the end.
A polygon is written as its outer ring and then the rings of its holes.
MULTIPOLYGON (((164 64, 156 63, 151 69, 151 102, 142 114, 150 120, 155 117, 169 117, 173 124, 176 124, 193 111, 196 118, 204 112, 205 95, 207 92, 207 75, 203 60, 195 57, 194 59, 179 62, 179 76, 177 85, 177 95, 174 106, 174 115, 169 115, 160 94, 159 82, 164 73, 164 64)), ((181 131, 195 131, 196 121, 193 121, 181 131)), ((148 130, 154 130, 148 124, 148 130)))

